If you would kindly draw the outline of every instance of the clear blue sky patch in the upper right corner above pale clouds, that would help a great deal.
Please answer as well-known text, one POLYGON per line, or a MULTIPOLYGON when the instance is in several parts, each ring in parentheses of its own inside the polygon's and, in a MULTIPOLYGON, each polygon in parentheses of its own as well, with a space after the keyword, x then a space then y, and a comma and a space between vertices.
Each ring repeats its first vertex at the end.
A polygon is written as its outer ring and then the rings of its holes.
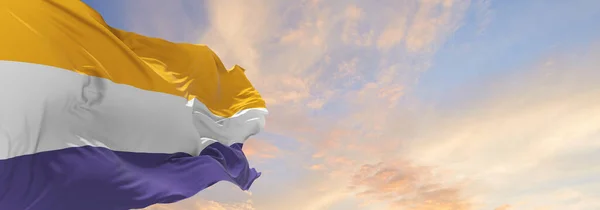
POLYGON ((600 29, 591 27, 600 14, 590 4, 594 3, 492 1, 494 21, 482 32, 477 12, 470 11, 471 21, 456 31, 437 53, 436 65, 423 75, 419 87, 431 92, 422 94, 437 96, 472 80, 512 73, 548 53, 589 45, 600 36, 600 29), (561 12, 565 10, 567 15, 561 12))

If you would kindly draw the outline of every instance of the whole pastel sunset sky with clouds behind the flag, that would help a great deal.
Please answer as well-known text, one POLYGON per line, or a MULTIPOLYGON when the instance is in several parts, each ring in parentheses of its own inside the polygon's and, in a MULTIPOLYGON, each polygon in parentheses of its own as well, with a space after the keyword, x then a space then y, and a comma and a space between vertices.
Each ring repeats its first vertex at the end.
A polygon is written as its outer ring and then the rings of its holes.
POLYGON ((600 1, 84 0, 267 102, 263 174, 169 209, 600 209, 600 1))

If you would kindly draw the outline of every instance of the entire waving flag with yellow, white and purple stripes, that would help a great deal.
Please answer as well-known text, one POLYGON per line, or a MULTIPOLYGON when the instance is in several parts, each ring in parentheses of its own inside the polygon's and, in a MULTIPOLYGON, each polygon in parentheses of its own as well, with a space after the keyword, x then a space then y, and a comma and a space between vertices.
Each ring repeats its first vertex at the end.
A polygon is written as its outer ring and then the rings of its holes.
POLYGON ((0 27, 0 209, 138 209, 260 175, 241 148, 265 102, 207 46, 79 0, 0 1, 0 27))

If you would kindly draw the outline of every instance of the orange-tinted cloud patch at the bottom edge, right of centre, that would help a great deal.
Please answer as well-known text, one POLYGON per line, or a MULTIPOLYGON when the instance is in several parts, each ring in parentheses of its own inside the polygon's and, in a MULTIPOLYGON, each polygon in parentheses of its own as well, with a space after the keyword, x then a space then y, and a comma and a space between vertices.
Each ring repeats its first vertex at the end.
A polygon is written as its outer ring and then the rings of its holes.
POLYGON ((432 168, 406 161, 365 164, 351 183, 350 189, 359 190, 357 196, 390 202, 392 209, 471 209, 460 184, 445 183, 432 168))

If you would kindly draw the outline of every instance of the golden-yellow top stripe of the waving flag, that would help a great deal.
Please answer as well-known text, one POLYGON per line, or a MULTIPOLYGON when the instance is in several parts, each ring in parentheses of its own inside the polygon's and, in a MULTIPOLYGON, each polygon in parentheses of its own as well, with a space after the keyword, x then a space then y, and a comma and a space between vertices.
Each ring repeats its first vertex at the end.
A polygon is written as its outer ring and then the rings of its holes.
POLYGON ((111 28, 79 0, 0 1, 0 27, 0 60, 55 66, 188 100, 198 98, 223 117, 265 108, 244 69, 225 69, 207 46, 111 28))

